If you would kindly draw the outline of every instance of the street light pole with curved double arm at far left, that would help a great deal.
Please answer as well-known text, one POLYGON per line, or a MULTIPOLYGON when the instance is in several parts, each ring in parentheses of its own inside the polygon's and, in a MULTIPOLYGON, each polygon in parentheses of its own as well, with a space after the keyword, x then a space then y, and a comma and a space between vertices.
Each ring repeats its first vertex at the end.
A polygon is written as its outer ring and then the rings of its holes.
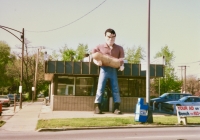
POLYGON ((12 34, 13 36, 15 36, 20 42, 22 42, 22 61, 21 61, 21 79, 20 79, 20 86, 19 86, 19 93, 20 93, 20 106, 19 108, 22 109, 22 83, 23 83, 23 59, 24 59, 24 28, 22 29, 22 32, 6 27, 6 26, 2 26, 0 25, 0 28, 9 32, 10 34, 12 34), (21 34, 21 38, 17 37, 15 34, 13 34, 11 31, 16 31, 19 32, 21 34))

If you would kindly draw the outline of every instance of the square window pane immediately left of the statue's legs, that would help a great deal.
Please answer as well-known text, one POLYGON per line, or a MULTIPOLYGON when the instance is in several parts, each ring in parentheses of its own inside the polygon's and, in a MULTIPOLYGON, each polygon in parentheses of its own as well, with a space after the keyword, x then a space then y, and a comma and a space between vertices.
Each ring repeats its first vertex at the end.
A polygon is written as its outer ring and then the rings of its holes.
POLYGON ((94 78, 77 77, 76 78, 77 96, 94 96, 94 78))

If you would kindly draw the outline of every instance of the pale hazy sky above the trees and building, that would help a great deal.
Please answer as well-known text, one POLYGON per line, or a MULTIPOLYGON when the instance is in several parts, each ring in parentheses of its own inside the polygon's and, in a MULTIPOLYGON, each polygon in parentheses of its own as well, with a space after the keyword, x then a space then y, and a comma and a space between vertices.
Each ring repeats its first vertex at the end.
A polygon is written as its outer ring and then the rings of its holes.
MULTIPOLYGON (((200 0, 151 0, 150 11, 150 61, 168 46, 177 76, 186 66, 187 76, 200 79, 200 0)), ((124 49, 141 46, 147 52, 148 0, 0 0, 0 25, 24 28, 33 52, 44 46, 41 51, 51 54, 80 43, 92 50, 105 42, 107 28, 124 49)), ((1 28, 0 40, 20 51, 21 42, 1 28)))

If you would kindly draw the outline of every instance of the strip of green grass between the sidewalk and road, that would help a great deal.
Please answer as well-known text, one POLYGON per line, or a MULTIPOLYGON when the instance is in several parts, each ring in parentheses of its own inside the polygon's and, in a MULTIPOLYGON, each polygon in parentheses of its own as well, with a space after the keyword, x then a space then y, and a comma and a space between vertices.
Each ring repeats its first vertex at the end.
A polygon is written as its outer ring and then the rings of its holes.
MULTIPOLYGON (((200 125, 200 117, 188 117, 189 125, 200 125)), ((133 125, 176 125, 176 116, 153 117, 153 123, 135 122, 134 117, 102 118, 68 118, 39 120, 36 129, 40 128, 80 128, 80 127, 114 127, 133 125)))

